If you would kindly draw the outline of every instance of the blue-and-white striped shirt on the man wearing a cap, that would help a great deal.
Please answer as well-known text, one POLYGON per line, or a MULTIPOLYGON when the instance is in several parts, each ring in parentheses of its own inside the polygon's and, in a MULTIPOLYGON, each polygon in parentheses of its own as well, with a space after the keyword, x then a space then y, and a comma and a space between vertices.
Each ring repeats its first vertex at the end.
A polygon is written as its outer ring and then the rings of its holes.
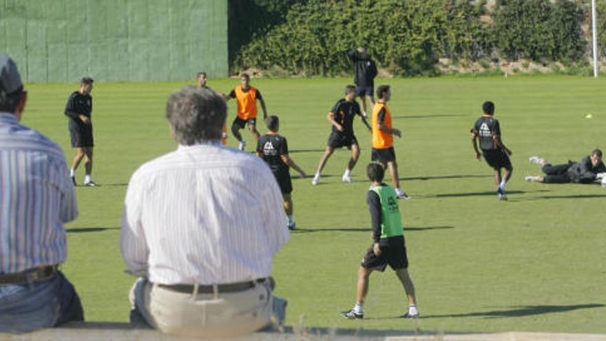
POLYGON ((61 147, 0 112, 0 273, 65 262, 63 223, 76 216, 61 147))

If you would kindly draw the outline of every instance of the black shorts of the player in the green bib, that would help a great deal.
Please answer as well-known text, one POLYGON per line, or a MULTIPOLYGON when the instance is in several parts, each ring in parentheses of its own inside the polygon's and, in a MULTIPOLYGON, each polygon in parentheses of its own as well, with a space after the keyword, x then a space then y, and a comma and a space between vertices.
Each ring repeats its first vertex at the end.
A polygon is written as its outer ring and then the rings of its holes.
MULTIPOLYGON (((384 240, 382 240, 384 242, 384 240)), ((404 236, 387 238, 387 245, 380 245, 381 256, 376 256, 373 251, 373 245, 366 251, 362 258, 362 267, 364 269, 385 271, 387 265, 392 269, 408 269, 408 256, 406 256, 406 245, 404 236)))

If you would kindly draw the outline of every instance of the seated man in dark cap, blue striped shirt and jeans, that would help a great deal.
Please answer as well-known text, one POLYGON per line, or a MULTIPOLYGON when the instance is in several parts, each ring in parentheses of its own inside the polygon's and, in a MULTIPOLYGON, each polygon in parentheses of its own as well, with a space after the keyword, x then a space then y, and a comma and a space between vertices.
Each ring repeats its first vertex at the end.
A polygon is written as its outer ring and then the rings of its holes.
POLYGON ((78 216, 74 185, 61 147, 19 124, 27 98, 17 65, 0 56, 0 333, 83 320, 57 270, 63 223, 78 216))

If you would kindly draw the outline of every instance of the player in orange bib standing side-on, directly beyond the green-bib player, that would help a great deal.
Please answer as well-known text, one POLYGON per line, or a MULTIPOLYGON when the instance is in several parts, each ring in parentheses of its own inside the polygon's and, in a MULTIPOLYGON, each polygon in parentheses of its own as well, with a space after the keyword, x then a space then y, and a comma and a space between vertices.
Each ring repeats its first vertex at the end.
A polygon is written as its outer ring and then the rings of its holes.
POLYGON ((393 149, 393 136, 401 138, 402 133, 391 125, 391 111, 387 107, 387 102, 391 99, 391 90, 389 85, 381 85, 377 88, 379 101, 373 107, 373 152, 371 158, 373 161, 381 163, 383 167, 389 169, 391 182, 395 188, 395 194, 399 199, 410 199, 400 188, 398 178, 397 163, 395 161, 395 151, 393 149))

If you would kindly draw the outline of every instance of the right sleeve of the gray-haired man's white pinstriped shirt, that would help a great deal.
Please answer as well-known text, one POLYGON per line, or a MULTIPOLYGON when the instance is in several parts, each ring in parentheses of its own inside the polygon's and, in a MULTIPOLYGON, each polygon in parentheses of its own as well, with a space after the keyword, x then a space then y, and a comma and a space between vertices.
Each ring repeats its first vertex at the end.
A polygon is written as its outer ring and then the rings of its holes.
MULTIPOLYGON (((259 160, 262 163, 262 161, 259 160)), ((275 254, 289 241, 291 235, 286 227, 286 214, 284 213, 284 199, 282 192, 278 187, 278 182, 269 170, 269 167, 262 163, 262 172, 255 172, 258 181, 255 181, 254 190, 259 194, 260 211, 265 224, 263 225, 267 234, 267 247, 271 254, 275 254)))

